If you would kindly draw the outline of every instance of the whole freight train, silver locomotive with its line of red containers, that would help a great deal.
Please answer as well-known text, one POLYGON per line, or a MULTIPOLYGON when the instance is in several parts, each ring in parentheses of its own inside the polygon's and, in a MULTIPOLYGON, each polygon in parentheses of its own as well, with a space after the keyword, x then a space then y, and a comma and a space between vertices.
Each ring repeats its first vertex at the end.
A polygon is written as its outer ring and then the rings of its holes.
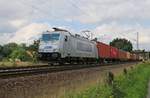
POLYGON ((139 56, 99 41, 91 41, 69 31, 53 28, 43 32, 39 43, 39 59, 63 63, 104 63, 136 61, 139 56))

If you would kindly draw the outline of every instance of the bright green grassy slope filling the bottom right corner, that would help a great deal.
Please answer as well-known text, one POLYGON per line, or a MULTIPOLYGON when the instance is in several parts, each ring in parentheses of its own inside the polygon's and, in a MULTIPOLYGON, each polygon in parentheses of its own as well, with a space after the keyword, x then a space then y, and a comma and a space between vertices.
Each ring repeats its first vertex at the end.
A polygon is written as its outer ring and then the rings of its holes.
POLYGON ((150 63, 139 64, 114 78, 112 85, 96 84, 80 93, 67 93, 65 98, 145 98, 150 79, 150 63))

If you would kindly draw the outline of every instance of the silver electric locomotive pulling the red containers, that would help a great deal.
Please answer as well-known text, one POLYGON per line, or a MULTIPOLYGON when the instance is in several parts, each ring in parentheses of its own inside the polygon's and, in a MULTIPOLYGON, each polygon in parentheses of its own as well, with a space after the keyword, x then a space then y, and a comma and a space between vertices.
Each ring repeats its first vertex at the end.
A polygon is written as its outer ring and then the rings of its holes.
POLYGON ((98 58, 95 42, 65 30, 44 32, 38 52, 40 59, 46 61, 92 62, 98 58))

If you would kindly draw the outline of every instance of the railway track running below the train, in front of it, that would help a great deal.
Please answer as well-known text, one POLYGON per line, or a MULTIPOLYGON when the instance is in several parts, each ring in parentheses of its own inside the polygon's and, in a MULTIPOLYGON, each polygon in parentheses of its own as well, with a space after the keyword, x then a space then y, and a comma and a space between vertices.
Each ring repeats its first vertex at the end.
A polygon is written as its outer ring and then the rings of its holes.
POLYGON ((19 68, 0 68, 0 78, 9 78, 9 77, 17 77, 24 75, 35 75, 35 74, 43 74, 43 73, 52 73, 52 72, 60 72, 67 70, 78 70, 84 68, 92 68, 92 67, 100 67, 105 70, 106 68, 116 68, 118 66, 135 64, 137 62, 126 62, 126 63, 110 63, 110 64, 91 64, 91 65, 63 65, 63 66, 30 66, 30 67, 19 67, 19 68))

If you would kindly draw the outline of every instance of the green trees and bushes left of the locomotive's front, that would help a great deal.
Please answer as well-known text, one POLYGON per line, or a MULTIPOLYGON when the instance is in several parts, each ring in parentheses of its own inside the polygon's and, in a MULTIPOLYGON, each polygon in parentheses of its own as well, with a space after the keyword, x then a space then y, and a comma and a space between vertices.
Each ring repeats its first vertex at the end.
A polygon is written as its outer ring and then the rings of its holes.
POLYGON ((8 43, 0 45, 0 60, 36 61, 38 41, 31 45, 8 43))

